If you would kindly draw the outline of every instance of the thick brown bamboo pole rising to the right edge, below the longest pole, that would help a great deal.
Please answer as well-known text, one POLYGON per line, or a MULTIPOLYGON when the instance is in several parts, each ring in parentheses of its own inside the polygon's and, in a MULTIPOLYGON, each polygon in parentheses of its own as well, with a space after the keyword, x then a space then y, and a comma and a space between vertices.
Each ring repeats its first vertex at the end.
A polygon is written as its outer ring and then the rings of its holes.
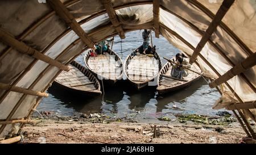
POLYGON ((256 65, 256 53, 253 53, 253 55, 250 55, 245 60, 234 66, 232 69, 228 70, 225 74, 223 74, 221 77, 218 77, 211 83, 209 83, 209 86, 211 88, 216 87, 218 85, 221 85, 221 83, 224 83, 228 81, 229 79, 233 78, 234 76, 237 76, 238 74, 245 72, 247 69, 253 67, 256 65))

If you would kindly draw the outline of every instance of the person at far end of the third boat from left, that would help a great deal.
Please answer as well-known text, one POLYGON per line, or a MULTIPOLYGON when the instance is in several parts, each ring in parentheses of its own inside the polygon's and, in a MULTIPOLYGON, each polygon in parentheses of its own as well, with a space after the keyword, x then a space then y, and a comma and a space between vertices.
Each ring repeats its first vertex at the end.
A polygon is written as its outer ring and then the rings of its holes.
POLYGON ((138 48, 138 52, 141 54, 150 54, 152 47, 150 44, 150 30, 144 29, 142 32, 143 44, 138 48))

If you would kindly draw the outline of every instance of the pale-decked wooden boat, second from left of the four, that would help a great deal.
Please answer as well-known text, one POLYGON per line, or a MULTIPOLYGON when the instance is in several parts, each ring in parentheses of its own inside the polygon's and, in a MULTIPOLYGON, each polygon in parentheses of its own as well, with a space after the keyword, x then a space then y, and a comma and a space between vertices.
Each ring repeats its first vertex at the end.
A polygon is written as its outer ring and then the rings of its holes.
POLYGON ((90 70, 98 79, 107 85, 113 86, 115 82, 123 77, 123 64, 121 58, 112 49, 104 55, 96 57, 90 56, 90 50, 84 56, 86 68, 90 70))

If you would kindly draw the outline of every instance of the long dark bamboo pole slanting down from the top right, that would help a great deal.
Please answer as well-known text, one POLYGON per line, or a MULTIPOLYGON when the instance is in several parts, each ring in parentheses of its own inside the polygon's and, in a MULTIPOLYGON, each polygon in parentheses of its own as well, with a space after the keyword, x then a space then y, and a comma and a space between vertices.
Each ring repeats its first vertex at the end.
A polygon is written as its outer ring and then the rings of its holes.
POLYGON ((210 36, 216 30, 217 26, 221 23, 222 18, 225 16, 226 12, 228 12, 229 8, 232 6, 234 0, 224 0, 218 9, 216 15, 214 16, 212 22, 210 23, 207 31, 205 31, 204 36, 201 38, 200 42, 197 44, 196 49, 194 50, 189 64, 193 64, 196 61, 196 57, 199 55, 201 50, 204 48, 204 45, 209 40, 210 36))

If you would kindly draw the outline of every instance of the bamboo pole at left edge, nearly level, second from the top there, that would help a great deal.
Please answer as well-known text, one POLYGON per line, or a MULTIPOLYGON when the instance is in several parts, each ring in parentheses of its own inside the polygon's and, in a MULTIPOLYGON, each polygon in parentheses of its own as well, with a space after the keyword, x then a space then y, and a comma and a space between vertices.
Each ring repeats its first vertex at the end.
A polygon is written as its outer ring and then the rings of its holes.
POLYGON ((18 93, 34 95, 34 96, 38 96, 38 97, 48 97, 47 93, 43 93, 41 91, 34 91, 34 90, 24 89, 22 87, 17 87, 17 86, 10 86, 6 83, 0 83, 0 89, 11 90, 11 91, 15 91, 15 92, 18 92, 18 93))

